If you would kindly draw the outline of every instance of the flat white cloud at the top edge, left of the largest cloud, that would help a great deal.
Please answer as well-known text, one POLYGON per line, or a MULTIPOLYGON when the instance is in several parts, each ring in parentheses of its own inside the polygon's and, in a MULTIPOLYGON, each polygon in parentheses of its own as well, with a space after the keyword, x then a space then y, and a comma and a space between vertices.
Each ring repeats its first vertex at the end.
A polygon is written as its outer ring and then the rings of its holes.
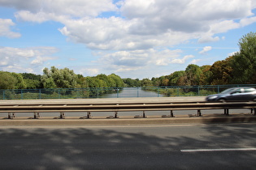
POLYGON ((41 19, 37 20, 32 15, 40 14, 39 16, 44 19, 52 19, 50 15, 83 18, 85 16, 96 17, 102 12, 117 10, 111 0, 10 0, 0 2, 0 6, 15 7, 18 10, 16 17, 26 21, 32 19, 37 22, 41 22, 41 19))

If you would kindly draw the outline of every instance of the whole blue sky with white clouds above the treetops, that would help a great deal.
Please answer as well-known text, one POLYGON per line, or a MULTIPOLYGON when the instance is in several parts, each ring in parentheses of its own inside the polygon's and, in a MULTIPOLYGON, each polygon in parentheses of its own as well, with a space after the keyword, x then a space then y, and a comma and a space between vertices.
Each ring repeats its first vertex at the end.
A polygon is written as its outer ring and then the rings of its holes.
POLYGON ((151 79, 223 60, 249 32, 255 0, 0 0, 0 70, 151 79))

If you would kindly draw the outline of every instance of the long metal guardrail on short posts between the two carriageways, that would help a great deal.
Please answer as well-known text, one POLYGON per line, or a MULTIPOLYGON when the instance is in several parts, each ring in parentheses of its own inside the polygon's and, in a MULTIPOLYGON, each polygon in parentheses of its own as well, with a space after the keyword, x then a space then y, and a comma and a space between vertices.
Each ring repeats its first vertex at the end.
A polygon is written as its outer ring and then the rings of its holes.
POLYGON ((118 118, 118 112, 141 111, 142 117, 146 111, 170 111, 169 117, 174 117, 175 110, 197 110, 197 116, 202 116, 201 110, 249 108, 256 115, 255 101, 232 102, 169 102, 169 103, 122 103, 122 104, 0 104, 0 113, 8 113, 8 118, 14 118, 15 113, 34 113, 34 118, 39 118, 40 113, 60 113, 59 118, 65 118, 65 113, 87 113, 85 118, 90 118, 92 112, 114 112, 113 118, 118 118))

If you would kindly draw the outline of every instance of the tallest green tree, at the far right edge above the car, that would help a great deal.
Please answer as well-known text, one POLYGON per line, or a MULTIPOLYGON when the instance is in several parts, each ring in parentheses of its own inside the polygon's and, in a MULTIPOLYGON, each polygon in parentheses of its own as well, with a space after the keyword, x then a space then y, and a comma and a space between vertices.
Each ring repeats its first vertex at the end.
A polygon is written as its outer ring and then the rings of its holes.
POLYGON ((249 32, 238 43, 240 52, 232 57, 234 83, 256 83, 256 33, 249 32))

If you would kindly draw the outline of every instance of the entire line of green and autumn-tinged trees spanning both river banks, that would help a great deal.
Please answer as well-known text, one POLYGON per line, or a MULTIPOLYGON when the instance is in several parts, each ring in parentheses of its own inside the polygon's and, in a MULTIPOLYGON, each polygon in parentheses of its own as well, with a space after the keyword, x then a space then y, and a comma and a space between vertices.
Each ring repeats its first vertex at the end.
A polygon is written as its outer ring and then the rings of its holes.
POLYGON ((0 89, 86 88, 86 87, 161 87, 256 83, 256 33, 249 32, 238 42, 239 52, 212 66, 190 64, 152 79, 121 79, 116 74, 84 77, 68 68, 45 68, 43 74, 0 71, 0 89))

